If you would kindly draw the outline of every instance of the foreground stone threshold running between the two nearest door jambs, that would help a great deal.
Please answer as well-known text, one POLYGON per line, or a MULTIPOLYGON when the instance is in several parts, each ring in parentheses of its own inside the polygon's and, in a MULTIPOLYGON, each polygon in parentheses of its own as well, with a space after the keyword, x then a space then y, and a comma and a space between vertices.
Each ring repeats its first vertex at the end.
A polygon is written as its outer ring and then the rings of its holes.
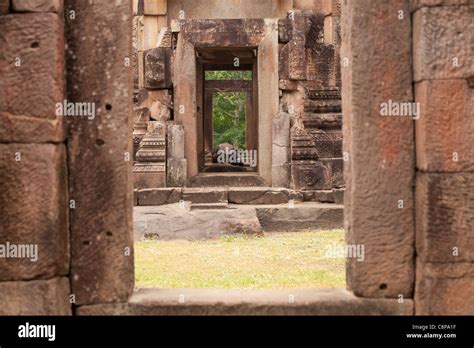
POLYGON ((138 289, 127 303, 85 305, 76 315, 413 315, 413 300, 360 298, 345 289, 138 289))

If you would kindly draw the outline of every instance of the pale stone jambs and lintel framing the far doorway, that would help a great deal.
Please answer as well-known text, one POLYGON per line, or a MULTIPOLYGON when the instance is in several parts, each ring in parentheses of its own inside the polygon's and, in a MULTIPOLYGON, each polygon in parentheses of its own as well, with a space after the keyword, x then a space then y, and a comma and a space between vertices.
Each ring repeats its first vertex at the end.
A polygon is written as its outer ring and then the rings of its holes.
MULTIPOLYGON (((203 158, 198 134, 202 134, 202 106, 198 105, 198 83, 202 80, 196 59, 199 48, 254 48, 257 50, 258 174, 272 185, 273 119, 278 113, 278 20, 228 19, 181 20, 173 22, 179 31, 174 61, 175 121, 185 129, 187 180, 199 174, 203 158)), ((255 79, 255 76, 254 76, 255 79)), ((201 82, 202 83, 202 82, 201 82)), ((289 136, 289 135, 288 135, 289 136)))

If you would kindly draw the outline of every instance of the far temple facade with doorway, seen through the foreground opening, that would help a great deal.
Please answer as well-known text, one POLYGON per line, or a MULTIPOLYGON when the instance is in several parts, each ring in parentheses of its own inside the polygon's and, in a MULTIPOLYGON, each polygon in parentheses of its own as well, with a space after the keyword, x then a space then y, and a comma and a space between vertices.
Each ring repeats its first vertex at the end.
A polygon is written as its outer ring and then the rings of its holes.
POLYGON ((241 189, 200 202, 341 204, 339 1, 229 5, 135 1, 135 204, 196 201, 199 188, 222 187, 241 189), (206 78, 213 71, 251 78, 206 78), (212 163, 221 145, 213 94, 223 91, 245 95, 244 146, 255 166, 212 163))

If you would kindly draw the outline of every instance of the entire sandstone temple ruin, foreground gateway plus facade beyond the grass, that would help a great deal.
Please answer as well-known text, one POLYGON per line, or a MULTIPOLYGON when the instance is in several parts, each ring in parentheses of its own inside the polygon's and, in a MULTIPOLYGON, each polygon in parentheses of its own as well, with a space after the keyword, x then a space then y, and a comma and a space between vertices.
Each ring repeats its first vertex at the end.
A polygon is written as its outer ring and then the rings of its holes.
POLYGON ((0 258, 0 314, 472 315, 474 4, 340 5, 0 0, 0 244, 38 247, 0 258), (237 68, 251 79, 206 78, 237 68), (209 156, 215 90, 245 96, 256 168, 209 156), (65 100, 95 117, 58 115, 65 100), (382 116, 390 100, 421 117, 382 116), (345 241, 366 250, 347 289, 133 291, 134 201, 252 186, 340 202, 344 185, 345 241))

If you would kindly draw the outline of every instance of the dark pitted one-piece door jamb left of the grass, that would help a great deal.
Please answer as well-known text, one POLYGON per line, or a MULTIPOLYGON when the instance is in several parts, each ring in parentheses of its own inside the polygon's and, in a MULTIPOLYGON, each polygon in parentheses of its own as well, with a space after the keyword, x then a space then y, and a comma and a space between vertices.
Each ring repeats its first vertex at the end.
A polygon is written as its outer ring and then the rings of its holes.
POLYGON ((68 98, 96 106, 94 119, 70 122, 72 291, 78 305, 125 302, 134 285, 131 0, 68 6, 68 98))

